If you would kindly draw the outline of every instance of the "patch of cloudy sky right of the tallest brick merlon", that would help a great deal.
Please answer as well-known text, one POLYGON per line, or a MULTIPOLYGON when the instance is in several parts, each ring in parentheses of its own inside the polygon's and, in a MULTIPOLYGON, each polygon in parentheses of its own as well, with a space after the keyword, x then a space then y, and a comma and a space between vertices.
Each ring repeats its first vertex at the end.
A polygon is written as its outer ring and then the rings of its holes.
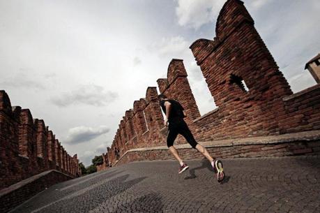
POLYGON ((257 31, 294 92, 316 84, 304 66, 319 52, 320 45, 315 41, 320 30, 314 27, 320 21, 314 7, 317 3, 314 0, 248 1, 247 8, 257 31))

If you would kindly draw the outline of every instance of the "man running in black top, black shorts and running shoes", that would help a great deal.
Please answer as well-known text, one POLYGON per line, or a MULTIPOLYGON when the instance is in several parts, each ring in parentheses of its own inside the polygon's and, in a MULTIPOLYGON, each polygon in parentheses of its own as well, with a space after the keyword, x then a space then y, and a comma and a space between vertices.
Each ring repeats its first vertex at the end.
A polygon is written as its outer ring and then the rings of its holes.
POLYGON ((168 99, 164 94, 160 94, 158 96, 158 101, 163 112, 165 113, 165 126, 168 126, 167 146, 170 152, 180 163, 180 169, 178 173, 180 174, 181 172, 184 172, 189 168, 187 164, 183 163, 183 160, 179 156, 178 151, 173 146, 174 140, 176 140, 176 136, 178 136, 178 134, 181 134, 183 135, 183 137, 185 137, 192 148, 197 149, 198 152, 200 152, 203 156, 206 157, 206 159, 208 159, 208 161, 210 161, 213 170, 215 170, 215 173, 217 174, 218 182, 222 182, 222 180, 224 179, 222 161, 214 160, 208 153, 206 148, 197 143, 190 129, 188 128, 188 125, 183 120, 183 118, 187 117, 187 115, 185 115, 182 105, 178 103, 178 101, 168 99))

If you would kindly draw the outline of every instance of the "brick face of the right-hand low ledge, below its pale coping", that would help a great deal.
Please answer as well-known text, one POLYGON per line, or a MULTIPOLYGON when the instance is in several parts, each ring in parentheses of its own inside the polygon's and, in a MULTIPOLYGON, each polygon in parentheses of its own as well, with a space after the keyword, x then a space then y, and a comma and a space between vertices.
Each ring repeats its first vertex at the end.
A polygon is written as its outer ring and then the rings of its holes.
MULTIPOLYGON (((259 145, 234 145, 220 147, 206 147, 209 153, 218 159, 222 158, 241 158, 241 157, 261 157, 261 156, 294 156, 294 155, 319 155, 320 141, 312 142, 294 141, 281 142, 273 144, 259 145)), ((199 152, 192 148, 178 149, 178 153, 182 159, 203 159, 199 152)), ((116 163, 117 166, 132 161, 160 161, 174 160, 174 156, 168 149, 152 149, 144 151, 128 152, 116 163)))

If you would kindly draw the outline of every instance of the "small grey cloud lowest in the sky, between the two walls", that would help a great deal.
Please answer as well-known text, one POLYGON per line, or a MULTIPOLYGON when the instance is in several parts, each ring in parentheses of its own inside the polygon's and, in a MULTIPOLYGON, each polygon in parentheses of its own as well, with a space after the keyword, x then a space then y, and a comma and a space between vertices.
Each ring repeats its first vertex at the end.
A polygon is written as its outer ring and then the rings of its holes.
POLYGON ((89 142, 90 140, 98 138, 100 135, 108 132, 109 128, 107 128, 107 126, 98 126, 97 128, 77 126, 69 129, 68 136, 65 141, 69 144, 89 142))

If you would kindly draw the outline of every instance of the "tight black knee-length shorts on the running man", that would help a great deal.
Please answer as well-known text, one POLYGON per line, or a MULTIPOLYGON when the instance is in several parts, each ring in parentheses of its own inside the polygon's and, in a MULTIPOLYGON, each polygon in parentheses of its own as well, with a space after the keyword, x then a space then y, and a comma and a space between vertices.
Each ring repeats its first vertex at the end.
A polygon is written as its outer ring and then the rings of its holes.
POLYGON ((197 141, 193 137, 188 125, 183 119, 175 120, 174 122, 169 122, 168 125, 168 136, 167 136, 167 146, 172 147, 174 145, 174 140, 178 134, 183 135, 192 148, 195 149, 197 146, 197 141))

